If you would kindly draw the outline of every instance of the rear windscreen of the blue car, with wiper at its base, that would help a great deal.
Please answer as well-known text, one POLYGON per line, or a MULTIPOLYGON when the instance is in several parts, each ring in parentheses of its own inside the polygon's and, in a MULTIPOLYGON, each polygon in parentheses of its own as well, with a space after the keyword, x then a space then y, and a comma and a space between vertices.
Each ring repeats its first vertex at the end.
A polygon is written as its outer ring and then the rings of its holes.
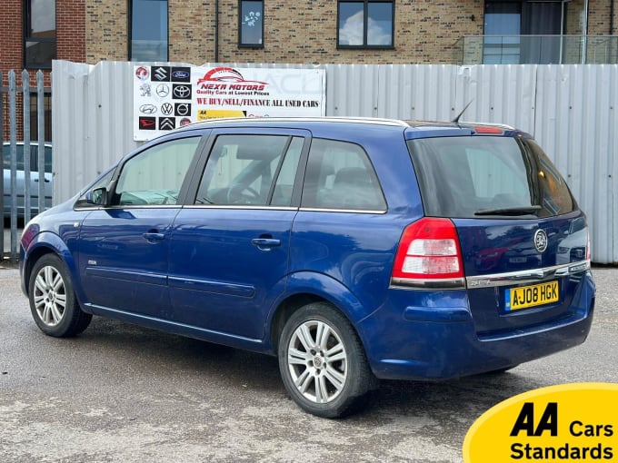
POLYGON ((562 176, 532 140, 503 136, 408 141, 433 217, 550 217, 576 208, 562 176))

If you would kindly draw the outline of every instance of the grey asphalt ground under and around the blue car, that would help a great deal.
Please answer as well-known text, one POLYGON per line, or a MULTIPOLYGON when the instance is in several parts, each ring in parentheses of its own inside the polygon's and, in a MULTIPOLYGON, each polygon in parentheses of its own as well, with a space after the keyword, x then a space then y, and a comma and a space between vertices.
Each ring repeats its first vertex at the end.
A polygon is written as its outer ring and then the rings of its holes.
POLYGON ((0 268, 0 462, 459 462, 466 431, 503 399, 618 382, 618 269, 593 275, 583 345, 500 375, 383 381, 360 413, 331 420, 288 399, 271 357, 96 317, 78 338, 49 338, 15 268, 0 268))

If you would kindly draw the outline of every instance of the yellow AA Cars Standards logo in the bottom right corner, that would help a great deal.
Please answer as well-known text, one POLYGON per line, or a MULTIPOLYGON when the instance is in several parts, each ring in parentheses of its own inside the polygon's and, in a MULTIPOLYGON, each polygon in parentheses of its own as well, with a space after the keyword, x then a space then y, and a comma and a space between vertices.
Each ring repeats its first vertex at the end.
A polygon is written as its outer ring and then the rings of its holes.
POLYGON ((616 461, 618 384, 551 386, 489 409, 463 441, 465 463, 616 461))

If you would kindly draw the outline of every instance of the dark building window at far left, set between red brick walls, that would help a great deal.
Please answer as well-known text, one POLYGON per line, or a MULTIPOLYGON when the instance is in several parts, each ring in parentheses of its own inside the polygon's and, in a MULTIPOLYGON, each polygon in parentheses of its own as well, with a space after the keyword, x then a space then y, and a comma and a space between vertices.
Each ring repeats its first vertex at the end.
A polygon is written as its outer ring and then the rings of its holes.
POLYGON ((56 58, 55 0, 26 0, 24 64, 27 69, 51 69, 56 58))

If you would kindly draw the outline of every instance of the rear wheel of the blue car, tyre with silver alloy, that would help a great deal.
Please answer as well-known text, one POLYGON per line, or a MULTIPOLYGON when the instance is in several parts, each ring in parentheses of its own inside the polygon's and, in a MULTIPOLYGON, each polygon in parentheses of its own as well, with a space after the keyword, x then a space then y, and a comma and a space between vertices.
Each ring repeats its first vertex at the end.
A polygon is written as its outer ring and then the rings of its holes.
POLYGON ((378 385, 354 328, 324 302, 306 305, 287 320, 278 357, 289 395, 319 417, 351 413, 378 385))

